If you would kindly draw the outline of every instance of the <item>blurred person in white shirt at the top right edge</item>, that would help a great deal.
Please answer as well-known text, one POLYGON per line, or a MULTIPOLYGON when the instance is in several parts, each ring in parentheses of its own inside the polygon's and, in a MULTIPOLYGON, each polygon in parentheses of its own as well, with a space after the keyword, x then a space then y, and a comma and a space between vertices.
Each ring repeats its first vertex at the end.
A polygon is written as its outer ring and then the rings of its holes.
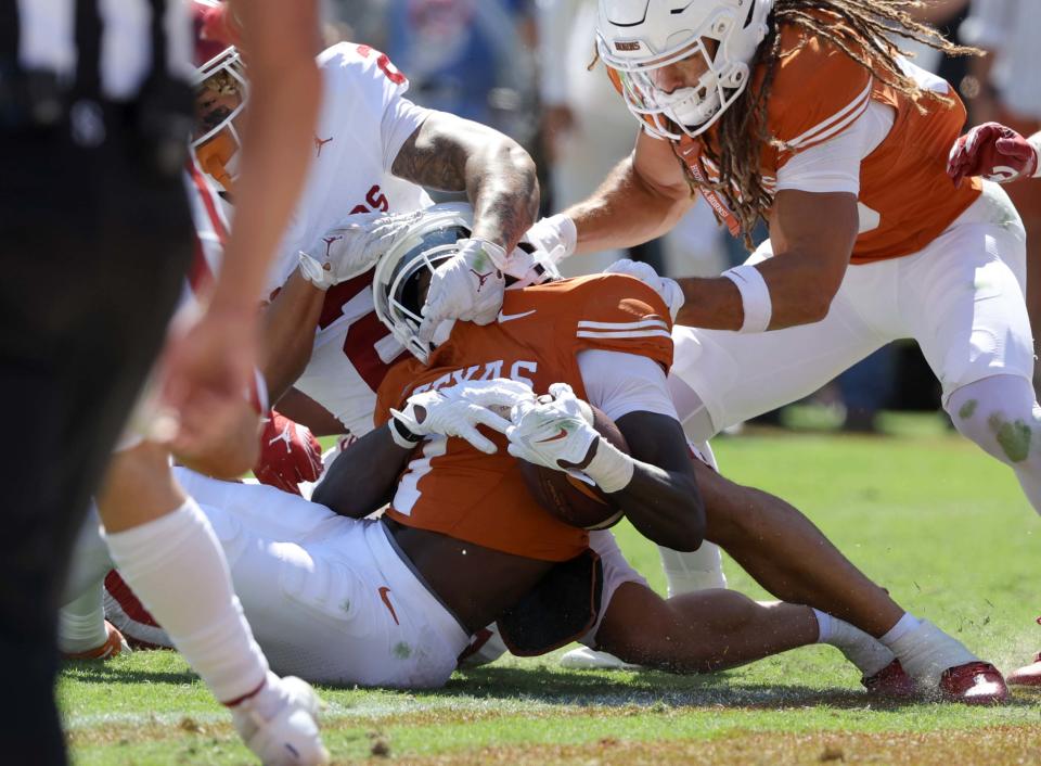
MULTIPOLYGON (((997 120, 1029 136, 1041 129, 1041 0, 973 0, 962 25, 964 40, 992 53, 974 62, 979 92, 971 102, 972 123, 997 120)), ((1005 187, 1027 229, 1027 263, 1041 258, 1041 184, 1005 187)), ((1041 339, 1041 271, 1027 269, 1027 309, 1034 353, 1041 339)), ((1038 387, 1034 371, 1034 387, 1038 387)))

